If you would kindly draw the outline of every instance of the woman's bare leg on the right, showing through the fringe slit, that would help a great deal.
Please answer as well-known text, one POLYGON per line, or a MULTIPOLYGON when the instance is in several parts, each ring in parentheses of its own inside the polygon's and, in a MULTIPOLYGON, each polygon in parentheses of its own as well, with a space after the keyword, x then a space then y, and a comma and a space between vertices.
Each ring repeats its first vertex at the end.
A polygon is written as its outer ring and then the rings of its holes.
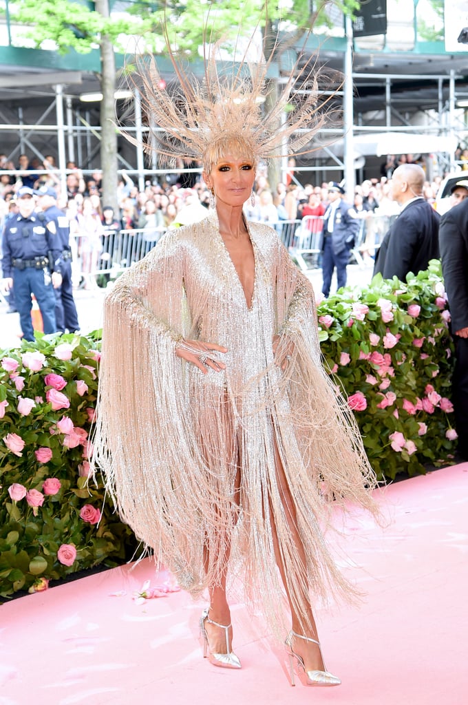
MULTIPOLYGON (((278 532, 276 530, 273 511, 271 510, 270 505, 271 530, 273 535, 273 548, 275 551, 276 563, 281 574, 281 580, 283 580, 286 595, 288 596, 288 602, 291 610, 291 626, 293 628, 293 632, 296 632, 296 634, 302 635, 304 637, 316 639, 316 641, 318 642, 319 637, 309 597, 309 585, 307 581, 306 569, 307 561, 304 551, 304 544, 302 543, 299 530, 297 529, 295 505, 290 493, 288 482, 285 477, 283 463, 281 462, 276 442, 274 444, 274 447, 278 490, 281 494, 281 501, 283 503, 286 520, 288 522, 291 537, 293 539, 293 543, 295 544, 295 548, 297 551, 297 562, 300 564, 300 566, 302 566, 302 568, 300 568, 300 572, 298 575, 288 576, 286 574, 285 564, 283 556, 281 554, 280 544, 278 541, 278 532), (293 595, 291 594, 291 583, 295 584, 295 590, 297 591, 296 599, 293 599, 293 595), (297 603, 299 603, 299 605, 301 606, 300 612, 297 603)), ((306 642, 304 639, 293 638, 293 649, 296 654, 302 656, 302 659, 304 660, 305 670, 325 670, 324 661, 322 660, 321 652, 317 644, 313 644, 312 642, 306 642)))

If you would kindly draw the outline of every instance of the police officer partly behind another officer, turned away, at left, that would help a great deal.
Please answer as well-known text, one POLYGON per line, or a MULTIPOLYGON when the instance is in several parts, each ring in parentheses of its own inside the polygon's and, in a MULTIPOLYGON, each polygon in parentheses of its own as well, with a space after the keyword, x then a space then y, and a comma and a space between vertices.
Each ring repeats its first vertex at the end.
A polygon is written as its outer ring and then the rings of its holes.
POLYGON ((73 298, 72 283, 72 252, 70 247, 70 221, 66 214, 57 207, 57 194, 51 186, 42 186, 36 191, 39 197, 39 208, 45 217, 45 225, 55 235, 61 247, 61 286, 54 289, 56 297, 55 317, 57 330, 65 333, 75 333, 80 329, 78 313, 73 298))

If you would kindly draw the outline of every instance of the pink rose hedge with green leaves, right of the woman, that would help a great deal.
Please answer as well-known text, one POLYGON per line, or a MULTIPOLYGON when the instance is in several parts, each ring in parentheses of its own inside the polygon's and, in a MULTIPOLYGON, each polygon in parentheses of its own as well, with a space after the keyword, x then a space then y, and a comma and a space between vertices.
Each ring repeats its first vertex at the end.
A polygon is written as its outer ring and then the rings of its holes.
POLYGON ((452 342, 441 264, 407 282, 374 277, 319 302, 321 350, 380 478, 424 473, 455 451, 452 342))

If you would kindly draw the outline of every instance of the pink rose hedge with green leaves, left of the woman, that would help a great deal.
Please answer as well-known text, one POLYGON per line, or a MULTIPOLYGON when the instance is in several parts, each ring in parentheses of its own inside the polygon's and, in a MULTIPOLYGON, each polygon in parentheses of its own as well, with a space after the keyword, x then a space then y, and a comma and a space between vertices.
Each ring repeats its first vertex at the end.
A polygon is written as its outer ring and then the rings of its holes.
POLYGON ((135 551, 101 484, 87 483, 99 355, 93 336, 40 334, 0 353, 1 597, 135 551))

